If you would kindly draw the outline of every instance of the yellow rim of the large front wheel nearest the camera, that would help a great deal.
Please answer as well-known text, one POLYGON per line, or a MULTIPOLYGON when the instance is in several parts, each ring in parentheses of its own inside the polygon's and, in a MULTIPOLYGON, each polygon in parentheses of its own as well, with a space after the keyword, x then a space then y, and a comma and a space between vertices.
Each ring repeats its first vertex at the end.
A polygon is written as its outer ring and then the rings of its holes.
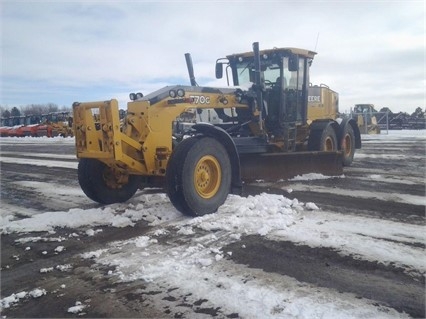
POLYGON ((222 181, 222 170, 217 159, 205 155, 195 165, 194 185, 198 195, 212 198, 219 190, 222 181))

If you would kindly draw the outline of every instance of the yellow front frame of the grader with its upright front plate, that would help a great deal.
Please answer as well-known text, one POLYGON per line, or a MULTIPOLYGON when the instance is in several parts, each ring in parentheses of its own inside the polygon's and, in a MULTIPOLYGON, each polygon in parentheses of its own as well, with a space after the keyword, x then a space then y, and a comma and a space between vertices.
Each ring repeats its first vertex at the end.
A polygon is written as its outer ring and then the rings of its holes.
MULTIPOLYGON (((127 105, 125 122, 120 123, 118 101, 74 103, 74 131, 78 158, 96 158, 129 174, 165 175, 173 151, 173 123, 194 109, 239 107, 235 94, 200 93, 191 87, 166 87, 167 97, 151 106, 149 97, 127 105), (185 97, 173 99, 169 90, 186 89, 185 97)), ((194 88, 196 89, 196 88, 194 88)), ((229 91, 229 89, 223 89, 229 91)), ((161 95, 154 92, 153 96, 161 95)))

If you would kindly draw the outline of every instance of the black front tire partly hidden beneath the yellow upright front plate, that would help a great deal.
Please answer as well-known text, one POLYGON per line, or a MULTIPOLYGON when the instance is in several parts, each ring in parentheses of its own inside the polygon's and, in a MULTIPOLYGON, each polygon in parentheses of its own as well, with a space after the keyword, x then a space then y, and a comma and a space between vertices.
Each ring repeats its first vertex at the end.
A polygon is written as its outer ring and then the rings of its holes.
POLYGON ((91 200, 100 204, 113 204, 129 200, 141 185, 142 178, 129 175, 127 183, 120 184, 112 168, 101 161, 82 158, 78 163, 78 182, 91 200))

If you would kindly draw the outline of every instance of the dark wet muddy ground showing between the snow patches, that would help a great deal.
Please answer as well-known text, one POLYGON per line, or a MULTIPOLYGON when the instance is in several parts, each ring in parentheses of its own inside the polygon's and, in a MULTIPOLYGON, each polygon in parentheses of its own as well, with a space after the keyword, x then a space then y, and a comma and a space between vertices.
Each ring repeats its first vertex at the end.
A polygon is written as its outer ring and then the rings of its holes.
MULTIPOLYGON (((1 145, 1 152, 2 157, 55 160, 53 157, 49 158, 48 154, 73 155, 74 146, 4 144, 1 145)), ((392 200, 395 194, 425 195, 424 170, 419 169, 421 158, 424 164, 424 140, 418 143, 407 140, 386 144, 380 139, 370 139, 359 154, 362 156, 355 159, 353 166, 345 169, 345 178, 246 184, 244 195, 262 192, 283 194, 288 198, 314 202, 321 209, 341 214, 424 225, 424 205, 392 200), (371 154, 381 157, 374 159, 371 154), (388 155, 391 156, 386 157, 388 155), (390 180, 374 178, 376 175, 390 180)), ((72 158, 61 160, 76 162, 72 158)), ((48 197, 41 196, 34 189, 22 187, 21 182, 79 188, 75 169, 2 162, 2 206, 16 209, 15 215, 20 218, 25 218, 29 214, 28 210, 41 213, 76 207, 100 207, 84 196, 77 196, 72 201, 69 201, 68 196, 61 197, 54 192, 48 197)), ((120 282, 116 277, 108 275, 108 267, 80 257, 83 252, 100 249, 116 240, 141 236, 150 229, 148 223, 139 221, 134 227, 102 227, 102 232, 91 237, 84 236, 86 229, 57 229, 52 234, 3 234, 1 298, 19 291, 30 291, 35 287, 43 287, 49 293, 42 298, 27 298, 17 305, 5 308, 2 316, 196 318, 203 315, 203 318, 239 318, 238 313, 223 313, 203 299, 188 301, 189 296, 174 294, 177 287, 163 287, 160 291, 143 281, 120 282), (40 236, 42 239, 30 243, 19 241, 20 238, 29 236, 40 236), (60 253, 56 250, 61 246, 58 238, 66 239, 66 250, 60 253), (41 272, 41 269, 48 269, 53 265, 68 264, 73 267, 41 272), (162 301, 161 306, 159 299, 162 301), (79 314, 68 312, 76 301, 90 303, 90 308, 79 314), (170 306, 164 306, 168 302, 170 306)), ((194 234, 198 235, 200 234, 194 234)), ((178 235, 169 235, 167 240, 179 244, 180 238, 178 235)), ((425 243, 411 245, 424 248, 425 243)), ((286 241, 275 242, 260 236, 242 237, 239 242, 232 243, 225 249, 232 251, 232 255, 226 258, 237 266, 247 265, 263 269, 265 273, 290 276, 303 283, 353 293, 359 299, 377 300, 378 307, 389 306, 415 318, 425 317, 424 274, 412 276, 395 265, 363 261, 342 256, 328 248, 311 248, 286 241), (242 246, 245 248, 241 248, 242 246)))

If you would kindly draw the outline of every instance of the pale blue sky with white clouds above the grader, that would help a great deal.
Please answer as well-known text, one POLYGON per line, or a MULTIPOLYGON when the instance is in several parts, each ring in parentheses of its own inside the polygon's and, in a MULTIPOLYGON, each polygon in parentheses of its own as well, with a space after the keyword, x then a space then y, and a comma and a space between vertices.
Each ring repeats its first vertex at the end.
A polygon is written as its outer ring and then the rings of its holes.
POLYGON ((318 52, 311 82, 356 103, 412 113, 425 108, 425 4, 420 1, 0 0, 0 105, 117 98, 200 85, 217 58, 252 49, 318 52))

